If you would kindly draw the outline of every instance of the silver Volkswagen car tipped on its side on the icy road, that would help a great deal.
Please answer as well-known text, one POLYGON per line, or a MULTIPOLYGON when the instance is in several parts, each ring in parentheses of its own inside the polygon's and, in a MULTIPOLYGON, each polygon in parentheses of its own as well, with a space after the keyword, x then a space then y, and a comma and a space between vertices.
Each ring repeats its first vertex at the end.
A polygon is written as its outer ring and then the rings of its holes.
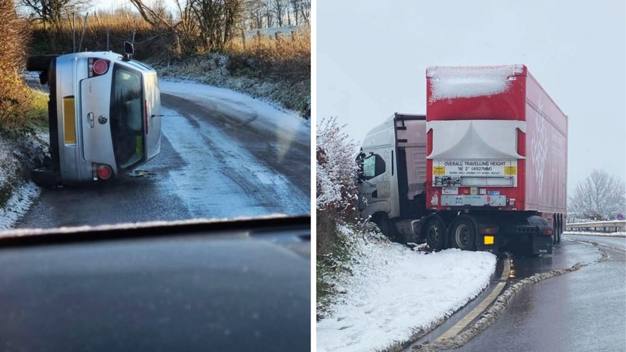
POLYGON ((156 157, 161 101, 156 71, 125 55, 85 52, 31 56, 26 68, 48 84, 51 165, 39 184, 110 180, 156 157))

